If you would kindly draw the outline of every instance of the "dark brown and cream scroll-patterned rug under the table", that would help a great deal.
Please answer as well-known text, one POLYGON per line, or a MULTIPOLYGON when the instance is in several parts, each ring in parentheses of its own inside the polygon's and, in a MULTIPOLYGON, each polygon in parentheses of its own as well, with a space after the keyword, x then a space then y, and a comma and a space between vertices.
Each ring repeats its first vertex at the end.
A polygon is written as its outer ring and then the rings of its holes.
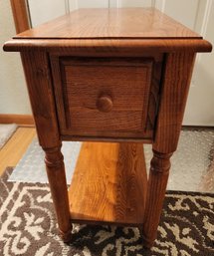
POLYGON ((167 192, 151 250, 137 228, 75 225, 73 241, 58 236, 49 187, 0 180, 0 255, 193 256, 214 255, 214 195, 167 192))

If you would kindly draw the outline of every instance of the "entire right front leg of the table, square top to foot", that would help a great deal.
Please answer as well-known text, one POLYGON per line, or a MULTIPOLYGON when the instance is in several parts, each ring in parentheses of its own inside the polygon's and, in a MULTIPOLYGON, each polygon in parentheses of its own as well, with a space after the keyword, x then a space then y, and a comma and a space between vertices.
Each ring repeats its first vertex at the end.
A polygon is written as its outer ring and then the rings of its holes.
POLYGON ((177 147, 194 60, 192 53, 166 56, 142 227, 147 247, 152 246, 156 237, 168 180, 169 159, 177 147))

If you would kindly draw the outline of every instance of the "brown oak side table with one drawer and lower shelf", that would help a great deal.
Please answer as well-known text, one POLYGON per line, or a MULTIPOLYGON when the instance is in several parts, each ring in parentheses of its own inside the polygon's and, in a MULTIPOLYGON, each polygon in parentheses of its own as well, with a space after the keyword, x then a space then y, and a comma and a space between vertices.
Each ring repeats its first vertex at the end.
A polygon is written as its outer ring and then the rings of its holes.
POLYGON ((77 10, 4 45, 21 53, 65 241, 71 222, 111 223, 138 226, 152 246, 195 55, 211 49, 152 8, 77 10), (69 193, 62 140, 91 141, 69 193), (148 181, 143 142, 153 148, 148 181))

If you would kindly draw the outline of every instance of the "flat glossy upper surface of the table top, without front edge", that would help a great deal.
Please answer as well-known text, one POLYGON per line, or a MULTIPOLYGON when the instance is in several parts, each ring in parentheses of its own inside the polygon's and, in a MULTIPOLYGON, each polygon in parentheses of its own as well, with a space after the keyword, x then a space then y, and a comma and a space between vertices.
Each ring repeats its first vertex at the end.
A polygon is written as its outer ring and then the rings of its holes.
POLYGON ((201 39, 154 8, 79 9, 14 38, 201 39))

